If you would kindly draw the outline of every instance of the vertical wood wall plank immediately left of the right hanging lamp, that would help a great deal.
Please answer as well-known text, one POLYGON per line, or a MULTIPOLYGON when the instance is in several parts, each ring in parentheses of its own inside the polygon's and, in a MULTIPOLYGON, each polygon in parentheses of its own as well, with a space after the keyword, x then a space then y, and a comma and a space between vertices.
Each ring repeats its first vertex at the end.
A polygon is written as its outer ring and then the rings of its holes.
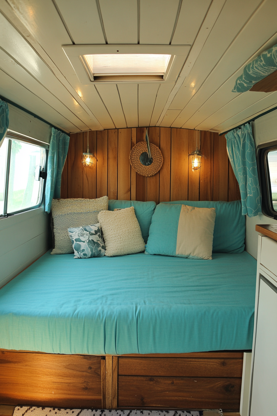
POLYGON ((188 199, 189 130, 171 129, 170 201, 188 199))

